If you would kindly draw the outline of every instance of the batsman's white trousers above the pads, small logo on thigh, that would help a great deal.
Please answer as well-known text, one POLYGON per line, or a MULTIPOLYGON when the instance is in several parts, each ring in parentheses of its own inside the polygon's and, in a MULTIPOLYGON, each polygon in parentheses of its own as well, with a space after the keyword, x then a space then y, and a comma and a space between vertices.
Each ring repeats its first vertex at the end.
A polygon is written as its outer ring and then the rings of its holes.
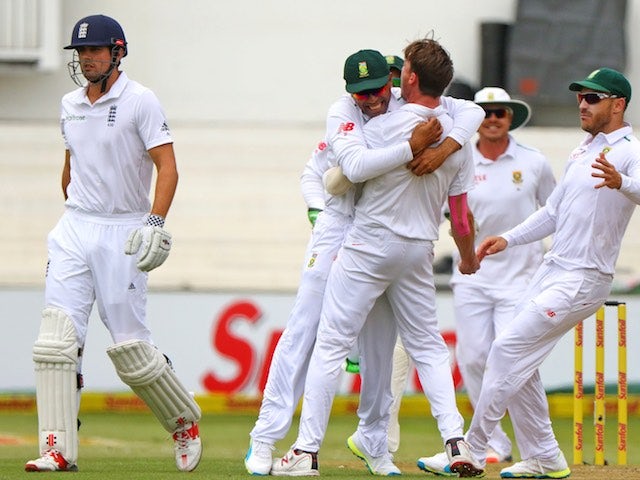
POLYGON ((151 341, 146 325, 147 274, 125 255, 142 215, 100 217, 67 209, 47 239, 47 306, 64 311, 84 346, 93 304, 115 343, 151 341))

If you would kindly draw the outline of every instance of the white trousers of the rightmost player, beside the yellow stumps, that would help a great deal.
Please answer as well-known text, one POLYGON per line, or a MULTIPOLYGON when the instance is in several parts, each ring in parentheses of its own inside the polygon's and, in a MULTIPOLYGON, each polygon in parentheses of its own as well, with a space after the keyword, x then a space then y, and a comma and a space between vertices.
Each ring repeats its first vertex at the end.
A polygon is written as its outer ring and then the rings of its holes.
POLYGON ((537 270, 517 315, 493 342, 487 358, 467 432, 478 459, 484 460, 489 437, 507 408, 523 459, 558 455, 538 368, 565 333, 605 302, 612 280, 596 270, 565 270, 553 263, 537 270))

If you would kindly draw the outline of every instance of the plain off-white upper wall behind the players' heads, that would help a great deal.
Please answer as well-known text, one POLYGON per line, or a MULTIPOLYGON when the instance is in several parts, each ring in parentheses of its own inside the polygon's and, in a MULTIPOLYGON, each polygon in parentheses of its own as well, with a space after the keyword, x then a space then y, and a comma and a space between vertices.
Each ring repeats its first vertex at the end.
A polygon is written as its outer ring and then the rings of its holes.
MULTIPOLYGON (((575 0, 574 0, 575 1, 575 0)), ((629 1, 628 24, 640 22, 629 1)), ((401 54, 434 30, 457 76, 480 77, 480 24, 510 22, 515 0, 61 0, 62 39, 82 16, 105 13, 130 43, 124 69, 151 87, 176 122, 323 122, 343 91, 342 64, 360 48, 401 54)), ((627 74, 637 85, 640 53, 628 28, 627 74), (634 81, 635 79, 635 81, 634 81)), ((50 74, 0 74, 0 119, 52 120, 74 87, 69 52, 50 74)), ((587 73, 587 72, 585 72, 587 73)), ((640 119, 640 101, 629 118, 640 119)))

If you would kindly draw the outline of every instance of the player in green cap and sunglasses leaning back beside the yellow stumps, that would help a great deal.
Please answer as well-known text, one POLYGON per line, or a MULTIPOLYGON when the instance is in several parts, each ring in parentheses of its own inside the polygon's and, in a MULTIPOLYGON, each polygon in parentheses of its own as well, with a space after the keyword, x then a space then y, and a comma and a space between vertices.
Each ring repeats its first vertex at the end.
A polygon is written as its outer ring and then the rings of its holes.
POLYGON ((478 258, 553 234, 515 318, 493 342, 467 440, 480 465, 498 419, 509 408, 522 461, 506 478, 564 478, 571 473, 549 418, 539 366, 558 340, 605 302, 629 219, 640 204, 640 143, 624 112, 631 85, 600 68, 573 82, 580 126, 588 133, 571 152, 547 203, 521 224, 478 247, 478 258))

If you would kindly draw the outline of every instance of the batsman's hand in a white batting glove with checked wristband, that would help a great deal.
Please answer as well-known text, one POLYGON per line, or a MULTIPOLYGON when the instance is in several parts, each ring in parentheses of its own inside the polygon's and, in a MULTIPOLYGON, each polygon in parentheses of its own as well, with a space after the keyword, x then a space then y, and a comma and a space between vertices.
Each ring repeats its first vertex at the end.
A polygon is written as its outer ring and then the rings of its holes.
POLYGON ((124 253, 138 255, 137 266, 143 272, 159 267, 169 256, 171 234, 162 227, 145 225, 135 229, 124 245, 124 253))

